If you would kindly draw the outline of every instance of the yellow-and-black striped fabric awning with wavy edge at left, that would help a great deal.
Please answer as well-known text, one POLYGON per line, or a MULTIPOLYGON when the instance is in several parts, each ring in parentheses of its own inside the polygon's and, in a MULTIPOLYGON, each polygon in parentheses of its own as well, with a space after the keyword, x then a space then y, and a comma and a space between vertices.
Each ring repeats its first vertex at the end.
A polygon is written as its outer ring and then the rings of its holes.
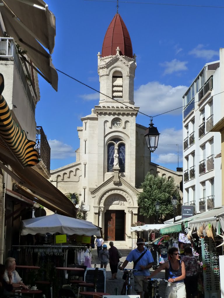
POLYGON ((0 99, 0 135, 24 167, 39 163, 39 153, 33 148, 36 143, 28 140, 25 132, 13 120, 3 96, 0 99))

